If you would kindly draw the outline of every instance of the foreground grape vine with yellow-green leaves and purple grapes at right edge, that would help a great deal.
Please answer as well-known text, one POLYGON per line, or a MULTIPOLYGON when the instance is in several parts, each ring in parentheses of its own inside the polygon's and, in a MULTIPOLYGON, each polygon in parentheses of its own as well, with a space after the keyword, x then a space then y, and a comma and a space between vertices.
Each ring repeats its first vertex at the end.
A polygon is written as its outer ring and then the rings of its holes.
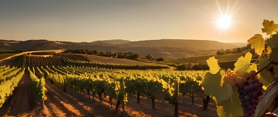
POLYGON ((278 24, 263 20, 262 25, 262 32, 269 37, 256 34, 247 41, 259 55, 256 63, 250 63, 250 52, 237 60, 233 71, 222 70, 214 57, 207 60, 210 71, 204 77, 204 94, 216 102, 220 117, 262 116, 256 113, 259 97, 278 73, 278 24))

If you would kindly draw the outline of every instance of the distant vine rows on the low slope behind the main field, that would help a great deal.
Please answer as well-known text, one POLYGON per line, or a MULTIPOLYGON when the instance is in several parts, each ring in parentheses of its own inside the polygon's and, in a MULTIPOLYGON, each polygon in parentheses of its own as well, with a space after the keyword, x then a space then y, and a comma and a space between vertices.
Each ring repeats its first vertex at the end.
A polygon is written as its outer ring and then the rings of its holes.
MULTIPOLYGON (((87 66, 106 69, 168 69, 169 66, 161 64, 113 64, 91 62, 88 58, 76 54, 54 54, 54 55, 24 55, 26 66, 45 66, 45 65, 72 65, 72 66, 87 66)), ((25 63, 24 62, 24 63, 25 63)))

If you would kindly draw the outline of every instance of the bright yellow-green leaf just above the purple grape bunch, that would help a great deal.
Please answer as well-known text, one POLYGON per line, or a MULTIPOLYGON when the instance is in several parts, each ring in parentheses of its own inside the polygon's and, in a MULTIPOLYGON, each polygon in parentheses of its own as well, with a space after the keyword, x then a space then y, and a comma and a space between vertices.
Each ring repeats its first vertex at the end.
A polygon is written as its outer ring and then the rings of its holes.
POLYGON ((238 61, 235 63, 235 71, 241 71, 241 72, 250 72, 251 70, 257 70, 257 65, 252 64, 250 66, 250 62, 252 59, 252 54, 250 52, 247 52, 245 54, 245 57, 242 57, 238 59, 238 61))

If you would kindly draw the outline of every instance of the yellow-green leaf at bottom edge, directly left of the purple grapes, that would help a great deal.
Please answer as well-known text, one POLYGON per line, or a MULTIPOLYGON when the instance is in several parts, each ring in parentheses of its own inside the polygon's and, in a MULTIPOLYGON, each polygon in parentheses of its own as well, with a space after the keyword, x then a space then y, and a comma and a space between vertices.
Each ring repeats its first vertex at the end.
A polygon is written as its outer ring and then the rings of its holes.
POLYGON ((232 88, 232 97, 223 100, 221 103, 217 103, 218 106, 222 106, 222 109, 217 108, 217 114, 219 117, 229 117, 230 115, 231 117, 241 117, 243 115, 241 100, 239 98, 240 94, 237 92, 238 87, 234 85, 232 88))

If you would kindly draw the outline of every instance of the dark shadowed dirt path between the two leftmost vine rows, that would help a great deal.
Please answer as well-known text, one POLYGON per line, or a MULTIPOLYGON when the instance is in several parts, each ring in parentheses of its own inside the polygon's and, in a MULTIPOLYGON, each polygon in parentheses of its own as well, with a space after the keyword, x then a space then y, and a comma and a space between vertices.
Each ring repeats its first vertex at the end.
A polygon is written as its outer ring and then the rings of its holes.
POLYGON ((30 75, 24 73, 18 87, 13 92, 11 102, 1 108, 0 117, 23 115, 34 110, 38 104, 32 94, 30 75))

